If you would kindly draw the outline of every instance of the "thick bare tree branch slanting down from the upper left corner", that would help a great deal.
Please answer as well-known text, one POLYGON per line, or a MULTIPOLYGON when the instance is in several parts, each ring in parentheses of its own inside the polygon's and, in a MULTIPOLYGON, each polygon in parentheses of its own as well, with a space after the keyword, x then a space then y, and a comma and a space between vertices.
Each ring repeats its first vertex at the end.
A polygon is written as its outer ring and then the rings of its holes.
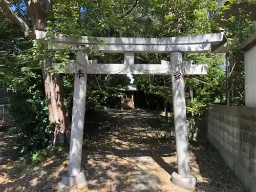
POLYGON ((3 12, 13 20, 13 22, 22 29, 24 34, 26 36, 29 36, 30 38, 34 38, 34 32, 30 31, 29 26, 23 21, 22 18, 18 17, 9 6, 9 2, 6 0, 0 0, 0 8, 3 10, 3 12))

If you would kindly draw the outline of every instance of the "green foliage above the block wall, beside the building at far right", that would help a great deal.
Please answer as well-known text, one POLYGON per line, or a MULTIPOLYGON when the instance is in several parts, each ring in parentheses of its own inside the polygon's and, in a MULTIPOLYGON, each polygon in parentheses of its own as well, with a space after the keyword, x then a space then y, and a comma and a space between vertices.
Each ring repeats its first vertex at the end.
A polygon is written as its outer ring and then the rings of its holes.
POLYGON ((236 7, 233 9, 232 15, 220 14, 222 22, 225 26, 215 26, 217 29, 224 31, 228 39, 226 47, 228 49, 227 55, 229 57, 229 75, 223 78, 221 92, 227 99, 227 92, 230 94, 230 104, 244 106, 244 53, 239 49, 241 42, 255 32, 256 22, 255 14, 248 12, 247 6, 255 1, 229 1, 229 4, 222 9, 228 7, 236 7), (240 6, 236 4, 240 3, 240 6), (247 4, 244 6, 243 4, 247 4), (232 63, 232 65, 231 65, 232 63))

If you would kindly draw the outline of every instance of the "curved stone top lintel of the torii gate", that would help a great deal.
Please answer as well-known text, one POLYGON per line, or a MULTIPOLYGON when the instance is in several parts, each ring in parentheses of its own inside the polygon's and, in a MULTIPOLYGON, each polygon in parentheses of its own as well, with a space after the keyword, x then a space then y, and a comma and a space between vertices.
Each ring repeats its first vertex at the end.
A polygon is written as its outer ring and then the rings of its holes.
MULTIPOLYGON (((35 33, 37 39, 44 39, 47 34, 44 31, 35 31, 35 33)), ((97 46, 97 49, 103 53, 169 53, 173 51, 199 53, 209 51, 211 45, 216 45, 222 41, 223 36, 224 32, 160 38, 87 36, 76 38, 57 34, 52 38, 50 47, 53 49, 62 49, 63 44, 68 44, 74 49, 77 49, 77 45, 82 44, 83 47, 87 48, 97 46), (105 44, 98 44, 98 42, 93 40, 95 38, 105 41, 105 44)))

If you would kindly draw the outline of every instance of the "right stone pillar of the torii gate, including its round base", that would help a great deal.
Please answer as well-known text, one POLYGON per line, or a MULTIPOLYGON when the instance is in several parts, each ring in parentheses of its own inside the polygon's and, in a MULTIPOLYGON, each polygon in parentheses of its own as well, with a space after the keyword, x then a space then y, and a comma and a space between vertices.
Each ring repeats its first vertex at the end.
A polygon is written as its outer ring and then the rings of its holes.
POLYGON ((170 63, 172 65, 171 67, 173 74, 173 108, 178 161, 178 173, 172 173, 172 182, 179 187, 191 189, 196 186, 197 180, 190 174, 189 166, 184 66, 182 64, 182 52, 171 52, 170 63))

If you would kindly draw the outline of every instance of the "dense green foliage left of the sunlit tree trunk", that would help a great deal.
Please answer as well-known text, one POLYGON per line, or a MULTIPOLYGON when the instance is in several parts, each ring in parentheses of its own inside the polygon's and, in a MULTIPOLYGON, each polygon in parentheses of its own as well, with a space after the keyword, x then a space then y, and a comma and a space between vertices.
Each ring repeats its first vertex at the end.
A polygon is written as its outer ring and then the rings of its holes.
MULTIPOLYGON (((26 18, 23 12, 17 14, 26 18)), ((40 44, 28 41, 2 12, 0 17, 0 81, 1 88, 9 90, 14 142, 20 153, 34 152, 49 145, 52 129, 38 62, 44 50, 37 51, 40 44)))

